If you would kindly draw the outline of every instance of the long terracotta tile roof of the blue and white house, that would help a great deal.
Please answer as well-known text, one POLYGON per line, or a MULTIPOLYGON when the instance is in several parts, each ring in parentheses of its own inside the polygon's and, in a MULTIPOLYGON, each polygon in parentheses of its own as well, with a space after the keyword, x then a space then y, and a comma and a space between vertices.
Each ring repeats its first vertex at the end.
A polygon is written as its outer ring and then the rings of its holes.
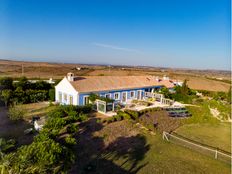
POLYGON ((174 87, 168 80, 158 82, 152 76, 86 76, 75 77, 75 80, 70 81, 70 83, 78 92, 110 91, 150 86, 174 87))

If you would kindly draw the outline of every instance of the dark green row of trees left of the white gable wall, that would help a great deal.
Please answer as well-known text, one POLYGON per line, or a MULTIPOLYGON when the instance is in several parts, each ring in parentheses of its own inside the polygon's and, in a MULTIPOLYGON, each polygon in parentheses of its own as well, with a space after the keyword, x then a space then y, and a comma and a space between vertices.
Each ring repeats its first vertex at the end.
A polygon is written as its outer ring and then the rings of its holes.
POLYGON ((44 82, 37 81, 31 83, 26 77, 22 77, 18 82, 13 83, 10 77, 0 78, 0 97, 5 105, 16 103, 35 103, 39 101, 54 101, 54 86, 44 82))

